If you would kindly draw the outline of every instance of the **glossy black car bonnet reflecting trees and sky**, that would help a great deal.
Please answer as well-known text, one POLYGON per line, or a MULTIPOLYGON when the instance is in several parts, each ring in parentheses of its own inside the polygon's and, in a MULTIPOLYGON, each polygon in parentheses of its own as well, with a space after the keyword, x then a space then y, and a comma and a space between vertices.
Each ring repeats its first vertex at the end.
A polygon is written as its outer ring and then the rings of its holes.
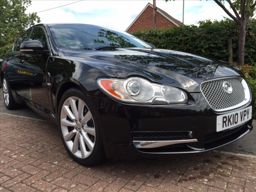
POLYGON ((151 81, 201 92, 203 81, 224 76, 243 76, 233 64, 189 53, 151 48, 117 48, 114 50, 65 50, 62 57, 86 59, 117 78, 142 75, 151 81))

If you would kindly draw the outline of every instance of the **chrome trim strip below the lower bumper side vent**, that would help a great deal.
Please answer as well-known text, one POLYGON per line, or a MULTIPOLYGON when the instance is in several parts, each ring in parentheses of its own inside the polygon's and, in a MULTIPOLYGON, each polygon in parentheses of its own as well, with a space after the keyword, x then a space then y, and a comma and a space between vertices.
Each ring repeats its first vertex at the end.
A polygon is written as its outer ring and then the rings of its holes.
POLYGON ((173 145, 178 143, 192 143, 198 142, 197 139, 187 140, 172 140, 172 141, 133 141, 136 148, 156 148, 166 145, 173 145))

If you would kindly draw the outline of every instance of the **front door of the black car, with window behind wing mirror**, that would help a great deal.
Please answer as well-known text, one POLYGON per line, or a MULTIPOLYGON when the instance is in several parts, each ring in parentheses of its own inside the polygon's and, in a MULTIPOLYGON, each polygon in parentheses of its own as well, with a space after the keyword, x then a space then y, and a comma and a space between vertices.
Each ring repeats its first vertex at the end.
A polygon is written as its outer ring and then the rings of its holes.
MULTIPOLYGON (((43 27, 38 26, 33 28, 28 40, 40 41, 44 46, 44 50, 49 50, 49 43, 46 37, 43 27)), ((20 54, 19 60, 21 63, 18 68, 23 74, 20 95, 25 97, 44 116, 48 114, 55 117, 51 112, 45 83, 47 59, 47 55, 20 54)))

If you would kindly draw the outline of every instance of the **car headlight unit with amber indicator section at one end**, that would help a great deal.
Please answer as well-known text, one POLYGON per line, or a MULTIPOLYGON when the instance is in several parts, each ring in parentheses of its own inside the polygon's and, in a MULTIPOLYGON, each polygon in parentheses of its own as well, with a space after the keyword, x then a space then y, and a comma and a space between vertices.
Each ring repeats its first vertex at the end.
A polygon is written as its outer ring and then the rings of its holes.
POLYGON ((154 104, 154 100, 159 98, 166 101, 161 104, 187 102, 184 91, 170 85, 153 84, 143 78, 132 77, 126 80, 102 78, 97 80, 97 84, 106 94, 124 102, 154 104))

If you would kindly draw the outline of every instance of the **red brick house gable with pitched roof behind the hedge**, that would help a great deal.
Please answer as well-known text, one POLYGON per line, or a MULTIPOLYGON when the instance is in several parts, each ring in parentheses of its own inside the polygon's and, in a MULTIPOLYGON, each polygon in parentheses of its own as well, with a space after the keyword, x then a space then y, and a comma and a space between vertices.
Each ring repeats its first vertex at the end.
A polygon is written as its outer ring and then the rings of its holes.
MULTIPOLYGON (((173 18, 165 11, 157 7, 156 11, 156 28, 164 27, 179 27, 182 25, 182 22, 173 18)), ((134 19, 130 26, 126 29, 126 32, 134 32, 142 29, 152 29, 153 28, 153 5, 148 3, 145 8, 140 12, 140 14, 134 19)))

